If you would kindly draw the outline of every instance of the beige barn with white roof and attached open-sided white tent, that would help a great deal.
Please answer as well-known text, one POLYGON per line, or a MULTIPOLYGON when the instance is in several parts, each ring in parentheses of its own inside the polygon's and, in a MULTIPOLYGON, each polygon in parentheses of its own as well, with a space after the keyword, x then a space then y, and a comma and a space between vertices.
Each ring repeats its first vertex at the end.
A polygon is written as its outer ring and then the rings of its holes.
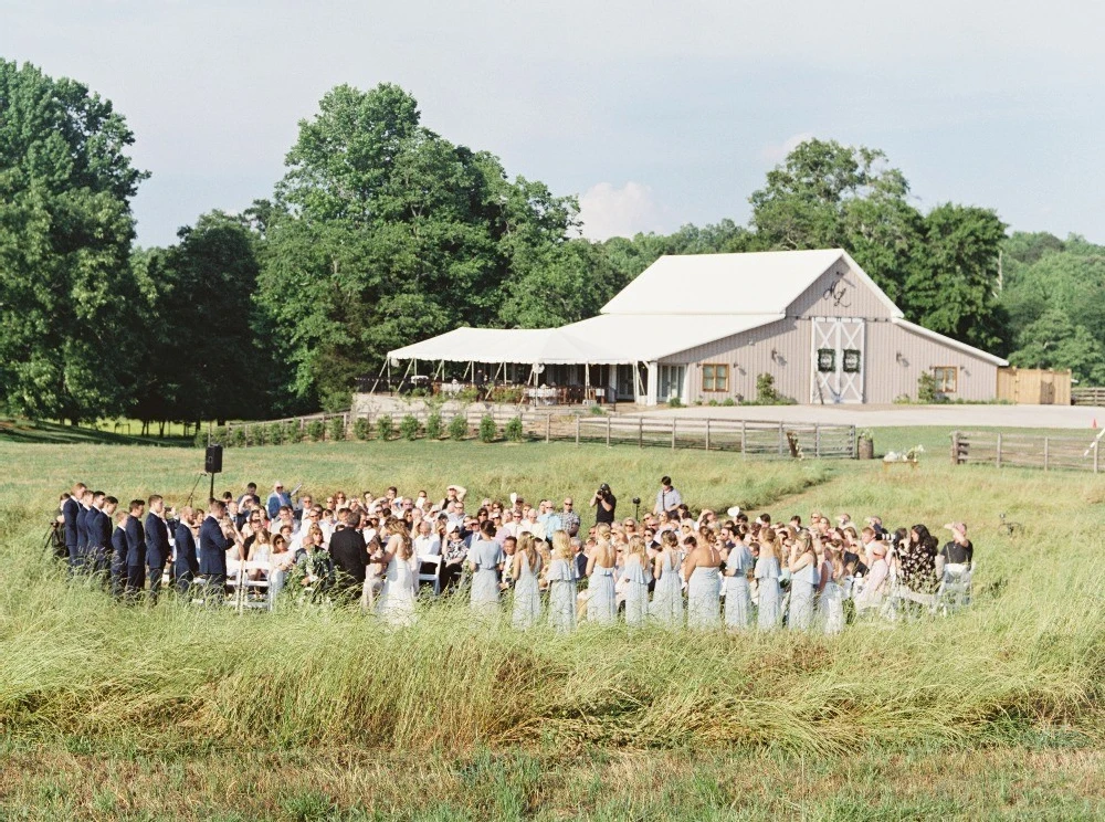
POLYGON ((663 256, 590 319, 457 328, 389 358, 649 405, 754 400, 765 373, 800 403, 916 399, 923 373, 948 398, 992 400, 1008 365, 906 320, 840 249, 663 256))

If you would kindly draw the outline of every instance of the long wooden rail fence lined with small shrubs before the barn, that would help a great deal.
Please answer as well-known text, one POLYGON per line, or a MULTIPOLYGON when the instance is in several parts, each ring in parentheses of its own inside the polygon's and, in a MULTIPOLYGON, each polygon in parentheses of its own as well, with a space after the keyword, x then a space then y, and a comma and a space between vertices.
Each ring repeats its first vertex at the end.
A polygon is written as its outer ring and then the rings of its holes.
MULTIPOLYGON (((409 414, 419 422, 420 436, 423 435, 428 418, 434 413, 428 409, 412 409, 409 414)), ((362 413, 362 429, 371 439, 378 439, 381 417, 390 417, 398 436, 402 417, 396 414, 362 413)), ((764 422, 743 420, 712 420, 695 418, 653 418, 618 414, 573 414, 565 412, 543 412, 526 410, 512 413, 507 410, 487 411, 469 408, 457 414, 442 414, 441 424, 448 430, 454 415, 465 420, 466 435, 478 431, 484 417, 491 415, 499 435, 511 420, 522 421, 523 438, 529 441, 602 443, 606 445, 636 445, 638 447, 699 449, 703 451, 739 452, 764 459, 855 459, 856 439, 854 425, 824 425, 818 423, 764 422)), ((220 440, 229 445, 253 445, 272 442, 270 432, 280 426, 282 441, 286 441, 287 428, 298 430, 302 439, 355 439, 357 419, 350 412, 337 414, 311 414, 269 422, 230 423, 220 434, 220 440), (338 422, 340 421, 340 422, 338 422), (314 424, 318 423, 318 424, 314 424), (308 436, 314 431, 316 436, 308 436), (339 434, 336 436, 336 434, 339 434)), ((362 431, 362 433, 365 433, 362 431)))

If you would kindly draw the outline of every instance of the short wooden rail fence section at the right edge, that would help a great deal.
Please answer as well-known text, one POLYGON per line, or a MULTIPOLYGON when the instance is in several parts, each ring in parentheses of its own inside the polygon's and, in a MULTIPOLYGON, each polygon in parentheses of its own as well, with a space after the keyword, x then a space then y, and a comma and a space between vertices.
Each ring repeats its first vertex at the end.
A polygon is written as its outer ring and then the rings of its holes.
POLYGON ((956 465, 1092 471, 1105 468, 1102 440, 1090 436, 1039 436, 1001 431, 955 431, 951 461, 956 465))

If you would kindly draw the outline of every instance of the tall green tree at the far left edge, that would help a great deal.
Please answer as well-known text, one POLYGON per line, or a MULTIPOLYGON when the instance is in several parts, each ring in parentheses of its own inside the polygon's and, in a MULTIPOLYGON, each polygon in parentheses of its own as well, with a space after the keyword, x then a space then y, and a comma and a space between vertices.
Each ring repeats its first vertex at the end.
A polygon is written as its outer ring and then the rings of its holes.
POLYGON ((0 61, 0 400, 14 413, 78 421, 129 393, 130 199, 147 176, 133 143, 87 86, 0 61))

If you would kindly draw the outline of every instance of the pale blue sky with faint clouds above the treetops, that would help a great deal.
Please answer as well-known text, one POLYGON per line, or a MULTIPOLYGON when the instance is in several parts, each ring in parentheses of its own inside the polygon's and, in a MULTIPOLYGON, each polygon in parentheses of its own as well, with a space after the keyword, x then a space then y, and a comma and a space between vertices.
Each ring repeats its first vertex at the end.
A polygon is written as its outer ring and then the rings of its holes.
POLYGON ((272 194, 298 122, 397 83, 422 122, 578 194, 594 239, 745 223, 810 136, 927 210, 1105 243, 1105 3, 0 0, 0 57, 107 97, 151 172, 138 241, 272 194))

